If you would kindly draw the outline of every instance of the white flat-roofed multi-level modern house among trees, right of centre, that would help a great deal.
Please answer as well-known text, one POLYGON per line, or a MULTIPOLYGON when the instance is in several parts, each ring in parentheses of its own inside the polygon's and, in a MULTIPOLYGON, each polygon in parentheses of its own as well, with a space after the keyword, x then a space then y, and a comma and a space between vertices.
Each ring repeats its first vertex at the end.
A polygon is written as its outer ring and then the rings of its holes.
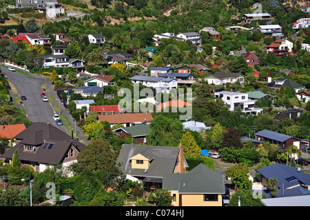
POLYGON ((244 114, 262 114, 262 108, 254 108, 256 100, 249 99, 247 93, 242 92, 214 92, 216 98, 222 99, 230 111, 241 109, 244 114))

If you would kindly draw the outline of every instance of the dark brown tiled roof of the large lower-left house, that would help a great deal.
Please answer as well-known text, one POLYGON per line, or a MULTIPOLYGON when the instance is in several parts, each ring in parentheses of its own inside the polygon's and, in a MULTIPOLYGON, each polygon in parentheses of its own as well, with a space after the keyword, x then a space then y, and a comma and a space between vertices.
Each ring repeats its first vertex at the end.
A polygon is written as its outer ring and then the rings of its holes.
POLYGON ((75 139, 72 140, 69 134, 52 126, 50 123, 34 122, 15 138, 21 141, 0 157, 12 159, 15 150, 19 150, 19 159, 22 161, 33 161, 46 164, 54 163, 57 165, 62 163, 63 159, 65 159, 65 154, 71 146, 78 152, 85 149, 83 143, 75 139), (53 143, 54 145, 51 149, 45 149, 42 148, 44 143, 53 143), (24 150, 24 144, 35 146, 34 152, 24 150))

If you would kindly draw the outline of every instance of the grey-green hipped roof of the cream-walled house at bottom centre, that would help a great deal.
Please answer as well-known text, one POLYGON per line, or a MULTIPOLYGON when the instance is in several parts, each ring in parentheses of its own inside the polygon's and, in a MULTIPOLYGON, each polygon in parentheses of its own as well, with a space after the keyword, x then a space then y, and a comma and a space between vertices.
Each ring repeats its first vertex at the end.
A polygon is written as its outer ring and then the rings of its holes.
POLYGON ((167 173, 163 177, 163 188, 183 193, 224 194, 223 174, 200 163, 187 173, 167 173))

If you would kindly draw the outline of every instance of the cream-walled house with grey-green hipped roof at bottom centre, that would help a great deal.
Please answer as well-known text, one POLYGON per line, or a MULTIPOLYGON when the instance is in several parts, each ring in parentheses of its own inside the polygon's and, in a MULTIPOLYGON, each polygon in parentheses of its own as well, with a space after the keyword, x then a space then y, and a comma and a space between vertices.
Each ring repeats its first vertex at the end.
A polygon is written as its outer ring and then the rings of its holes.
POLYGON ((165 173, 163 188, 171 192, 172 206, 223 205, 223 174, 207 168, 203 163, 186 173, 165 173))

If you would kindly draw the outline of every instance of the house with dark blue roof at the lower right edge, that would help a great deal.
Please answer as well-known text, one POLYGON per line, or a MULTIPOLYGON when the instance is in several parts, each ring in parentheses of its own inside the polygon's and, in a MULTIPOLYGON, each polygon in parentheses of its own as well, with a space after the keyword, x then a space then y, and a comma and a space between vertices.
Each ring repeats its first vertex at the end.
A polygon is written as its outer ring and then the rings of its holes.
POLYGON ((258 172, 257 179, 262 183, 262 186, 266 185, 268 179, 277 179, 277 197, 291 198, 310 194, 310 176, 298 168, 273 163, 257 169, 256 172, 258 172))

